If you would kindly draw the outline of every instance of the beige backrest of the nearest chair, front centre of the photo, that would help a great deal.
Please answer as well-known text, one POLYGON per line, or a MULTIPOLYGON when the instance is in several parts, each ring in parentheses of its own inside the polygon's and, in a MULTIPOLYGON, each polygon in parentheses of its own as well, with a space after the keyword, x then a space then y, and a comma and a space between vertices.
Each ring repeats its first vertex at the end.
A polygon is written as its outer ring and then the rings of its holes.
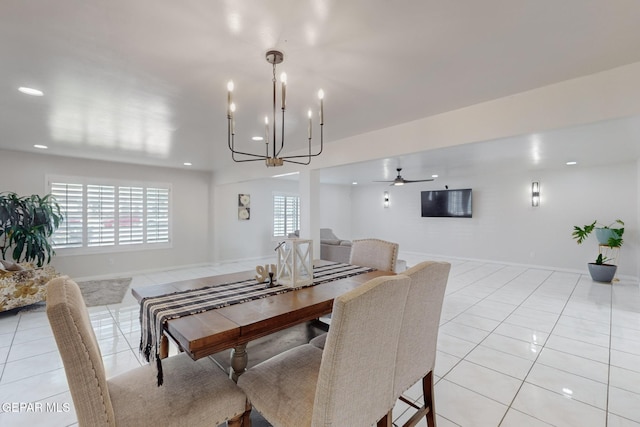
POLYGON ((410 280, 378 277, 334 300, 312 426, 373 425, 393 408, 394 363, 410 280))

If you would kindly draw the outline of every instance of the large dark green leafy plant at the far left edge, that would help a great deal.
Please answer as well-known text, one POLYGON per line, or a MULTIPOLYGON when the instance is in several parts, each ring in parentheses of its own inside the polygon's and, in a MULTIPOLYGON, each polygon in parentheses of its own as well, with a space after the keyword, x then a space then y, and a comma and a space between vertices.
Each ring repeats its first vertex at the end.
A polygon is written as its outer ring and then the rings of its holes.
POLYGON ((50 237, 63 220, 60 206, 51 194, 20 197, 0 193, 0 254, 15 262, 33 262, 38 267, 55 254, 50 237))

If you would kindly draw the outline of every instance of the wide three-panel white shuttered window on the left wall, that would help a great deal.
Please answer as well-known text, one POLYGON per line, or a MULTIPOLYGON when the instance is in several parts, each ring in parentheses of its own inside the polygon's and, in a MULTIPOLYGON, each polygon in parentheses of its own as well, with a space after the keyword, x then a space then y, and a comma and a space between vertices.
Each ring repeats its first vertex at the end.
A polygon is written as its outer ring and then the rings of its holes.
POLYGON ((54 248, 140 249, 170 242, 169 185, 97 181, 49 180, 51 194, 64 215, 52 236, 54 248))

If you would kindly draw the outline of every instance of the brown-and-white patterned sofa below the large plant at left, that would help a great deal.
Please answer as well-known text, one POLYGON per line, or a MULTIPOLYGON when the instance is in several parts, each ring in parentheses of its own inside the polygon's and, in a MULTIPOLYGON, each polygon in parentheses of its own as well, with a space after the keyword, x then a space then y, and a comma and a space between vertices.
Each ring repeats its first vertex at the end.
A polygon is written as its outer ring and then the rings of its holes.
POLYGON ((11 270, 0 268, 0 312, 45 301, 46 284, 58 275, 50 265, 34 268, 31 263, 22 263, 11 270))

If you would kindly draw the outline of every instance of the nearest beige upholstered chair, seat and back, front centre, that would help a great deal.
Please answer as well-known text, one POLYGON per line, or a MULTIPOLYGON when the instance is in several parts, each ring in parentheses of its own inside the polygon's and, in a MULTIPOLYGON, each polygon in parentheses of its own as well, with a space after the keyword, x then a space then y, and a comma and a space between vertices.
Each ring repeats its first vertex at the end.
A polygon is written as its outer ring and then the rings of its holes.
POLYGON ((306 344, 247 370, 238 385, 254 408, 279 427, 391 425, 409 282, 378 277, 336 298, 324 352, 306 344))

